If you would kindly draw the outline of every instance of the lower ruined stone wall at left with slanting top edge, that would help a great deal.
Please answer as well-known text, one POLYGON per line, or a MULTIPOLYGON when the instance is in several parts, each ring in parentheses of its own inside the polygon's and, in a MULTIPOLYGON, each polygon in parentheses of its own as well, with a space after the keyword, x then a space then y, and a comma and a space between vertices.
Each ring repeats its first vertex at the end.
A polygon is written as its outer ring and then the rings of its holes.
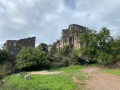
POLYGON ((15 57, 22 47, 35 47, 35 37, 20 40, 7 40, 3 45, 3 50, 6 50, 12 57, 15 57))

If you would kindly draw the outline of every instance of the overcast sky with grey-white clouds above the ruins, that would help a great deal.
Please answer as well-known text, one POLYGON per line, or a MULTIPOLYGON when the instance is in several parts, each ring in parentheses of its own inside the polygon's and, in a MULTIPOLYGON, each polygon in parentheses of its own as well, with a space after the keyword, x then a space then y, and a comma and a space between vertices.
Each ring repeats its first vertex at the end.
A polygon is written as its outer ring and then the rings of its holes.
POLYGON ((0 0, 0 48, 32 36, 36 45, 53 43, 70 24, 120 35, 120 0, 0 0))

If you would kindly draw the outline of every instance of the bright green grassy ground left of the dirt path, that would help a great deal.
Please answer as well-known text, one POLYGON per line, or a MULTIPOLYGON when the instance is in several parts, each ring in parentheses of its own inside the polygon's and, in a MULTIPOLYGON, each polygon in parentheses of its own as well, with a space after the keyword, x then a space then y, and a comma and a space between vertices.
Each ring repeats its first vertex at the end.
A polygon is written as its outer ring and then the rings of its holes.
POLYGON ((85 66, 73 65, 69 67, 51 69, 63 71, 57 75, 31 75, 31 80, 25 80, 18 74, 7 76, 0 87, 1 90, 81 90, 84 88, 84 74, 81 69, 85 66), (79 83, 73 82, 75 78, 79 83))

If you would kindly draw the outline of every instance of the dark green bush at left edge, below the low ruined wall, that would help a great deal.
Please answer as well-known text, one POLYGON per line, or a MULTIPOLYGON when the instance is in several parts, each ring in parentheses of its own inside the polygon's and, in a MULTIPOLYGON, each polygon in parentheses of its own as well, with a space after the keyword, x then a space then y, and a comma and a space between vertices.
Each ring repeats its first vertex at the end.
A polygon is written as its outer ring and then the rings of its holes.
POLYGON ((0 64, 4 61, 9 61, 10 56, 5 50, 0 50, 0 64))

